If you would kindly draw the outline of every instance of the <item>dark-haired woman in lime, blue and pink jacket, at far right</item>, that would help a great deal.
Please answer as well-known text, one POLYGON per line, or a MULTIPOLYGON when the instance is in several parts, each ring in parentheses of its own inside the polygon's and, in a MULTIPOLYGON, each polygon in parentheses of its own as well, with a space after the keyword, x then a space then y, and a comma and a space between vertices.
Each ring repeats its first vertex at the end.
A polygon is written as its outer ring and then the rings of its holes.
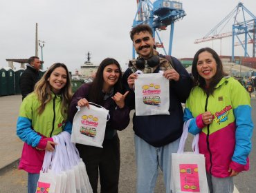
POLYGON ((199 134, 210 192, 233 192, 233 176, 249 169, 253 122, 250 97, 243 86, 223 72, 211 48, 196 52, 192 63, 195 86, 186 101, 184 121, 199 134))

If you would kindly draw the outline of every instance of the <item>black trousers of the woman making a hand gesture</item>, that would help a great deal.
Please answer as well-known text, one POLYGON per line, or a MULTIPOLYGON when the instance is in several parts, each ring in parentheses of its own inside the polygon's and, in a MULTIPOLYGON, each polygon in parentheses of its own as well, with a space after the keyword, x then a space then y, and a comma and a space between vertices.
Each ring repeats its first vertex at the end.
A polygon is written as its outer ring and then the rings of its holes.
POLYGON ((93 193, 97 193, 100 174, 101 193, 118 193, 120 172, 120 143, 118 134, 104 139, 103 148, 76 144, 80 157, 86 165, 93 193))

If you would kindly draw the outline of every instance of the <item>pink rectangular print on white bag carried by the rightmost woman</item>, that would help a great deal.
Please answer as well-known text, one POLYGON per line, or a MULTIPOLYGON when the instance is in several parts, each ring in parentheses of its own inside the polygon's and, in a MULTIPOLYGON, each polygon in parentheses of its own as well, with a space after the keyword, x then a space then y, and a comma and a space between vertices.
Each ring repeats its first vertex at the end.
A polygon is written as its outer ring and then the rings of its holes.
POLYGON ((197 164, 180 164, 181 191, 200 192, 197 164))

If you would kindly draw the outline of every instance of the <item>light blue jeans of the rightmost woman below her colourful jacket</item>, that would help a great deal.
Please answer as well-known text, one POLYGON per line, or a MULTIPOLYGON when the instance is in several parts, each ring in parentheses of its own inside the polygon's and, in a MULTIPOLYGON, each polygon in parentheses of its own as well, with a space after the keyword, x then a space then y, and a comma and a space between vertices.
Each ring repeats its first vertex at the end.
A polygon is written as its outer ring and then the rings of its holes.
POLYGON ((232 193, 234 191, 233 177, 217 178, 206 174, 210 193, 232 193))

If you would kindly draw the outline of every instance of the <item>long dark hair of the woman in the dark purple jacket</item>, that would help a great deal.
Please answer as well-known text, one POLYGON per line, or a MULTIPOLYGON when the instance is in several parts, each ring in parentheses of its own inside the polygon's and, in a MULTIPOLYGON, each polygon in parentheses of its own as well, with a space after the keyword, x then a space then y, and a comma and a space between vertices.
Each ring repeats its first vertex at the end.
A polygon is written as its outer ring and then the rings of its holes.
POLYGON ((118 61, 112 58, 104 59, 96 72, 95 78, 93 79, 93 82, 91 83, 91 90, 89 92, 89 101, 93 103, 97 103, 99 105, 103 105, 103 94, 102 94, 102 88, 103 88, 103 70, 107 67, 107 65, 116 64, 118 67, 118 70, 120 72, 120 77, 118 78, 118 81, 114 85, 114 93, 121 92, 122 90, 122 71, 120 64, 118 61))

